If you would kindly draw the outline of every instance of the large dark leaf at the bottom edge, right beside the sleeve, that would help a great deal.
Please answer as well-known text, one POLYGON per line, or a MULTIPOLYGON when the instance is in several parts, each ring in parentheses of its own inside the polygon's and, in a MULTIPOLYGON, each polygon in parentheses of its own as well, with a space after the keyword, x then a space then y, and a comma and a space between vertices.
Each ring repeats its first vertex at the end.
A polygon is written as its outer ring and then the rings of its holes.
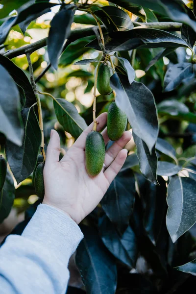
POLYGON ((80 270, 87 293, 114 294, 117 285, 115 262, 95 229, 81 226, 84 239, 76 251, 76 265, 80 270))

